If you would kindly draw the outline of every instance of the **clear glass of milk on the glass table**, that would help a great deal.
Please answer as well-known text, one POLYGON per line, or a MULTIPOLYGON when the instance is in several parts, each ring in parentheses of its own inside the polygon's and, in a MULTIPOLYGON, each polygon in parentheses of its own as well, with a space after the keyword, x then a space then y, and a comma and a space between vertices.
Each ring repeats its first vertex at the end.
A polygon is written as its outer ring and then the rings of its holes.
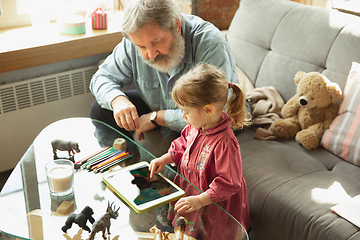
POLYGON ((74 164, 70 160, 48 162, 45 172, 51 198, 66 199, 74 196, 74 164))

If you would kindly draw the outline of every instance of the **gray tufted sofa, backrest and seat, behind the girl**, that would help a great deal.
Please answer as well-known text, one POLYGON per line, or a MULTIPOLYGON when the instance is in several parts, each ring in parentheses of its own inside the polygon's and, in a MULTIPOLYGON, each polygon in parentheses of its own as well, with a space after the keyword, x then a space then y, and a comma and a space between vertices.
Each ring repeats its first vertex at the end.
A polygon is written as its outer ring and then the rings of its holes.
MULTIPOLYGON (((285 102, 297 71, 320 72, 344 89, 352 62, 360 62, 359 17, 292 1, 241 0, 226 37, 254 87, 274 86, 285 102)), ((321 146, 255 139, 255 130, 237 133, 250 239, 360 239, 359 228, 330 211, 331 194, 314 196, 336 182, 351 197, 360 194, 360 167, 321 146)))

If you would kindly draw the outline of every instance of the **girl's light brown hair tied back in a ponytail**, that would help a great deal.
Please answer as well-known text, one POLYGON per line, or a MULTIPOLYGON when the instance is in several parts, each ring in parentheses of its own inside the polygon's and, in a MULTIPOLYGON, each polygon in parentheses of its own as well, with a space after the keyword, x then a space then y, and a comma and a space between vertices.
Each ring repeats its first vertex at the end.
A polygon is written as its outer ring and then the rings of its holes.
POLYGON ((244 92, 238 84, 228 83, 225 74, 210 64, 199 64, 181 76, 172 89, 172 98, 177 105, 184 107, 218 103, 225 108, 233 128, 242 129, 244 125, 250 125, 244 92), (228 98, 229 87, 232 91, 228 98))

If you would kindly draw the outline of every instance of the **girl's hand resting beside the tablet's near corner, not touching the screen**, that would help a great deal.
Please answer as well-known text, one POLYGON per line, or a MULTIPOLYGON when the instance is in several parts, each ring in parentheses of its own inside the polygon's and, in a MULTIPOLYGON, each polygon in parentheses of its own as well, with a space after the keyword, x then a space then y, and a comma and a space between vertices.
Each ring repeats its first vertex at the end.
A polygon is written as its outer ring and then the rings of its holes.
POLYGON ((175 211, 187 213, 198 210, 211 204, 212 201, 206 192, 203 192, 197 196, 189 196, 180 198, 175 204, 175 211))

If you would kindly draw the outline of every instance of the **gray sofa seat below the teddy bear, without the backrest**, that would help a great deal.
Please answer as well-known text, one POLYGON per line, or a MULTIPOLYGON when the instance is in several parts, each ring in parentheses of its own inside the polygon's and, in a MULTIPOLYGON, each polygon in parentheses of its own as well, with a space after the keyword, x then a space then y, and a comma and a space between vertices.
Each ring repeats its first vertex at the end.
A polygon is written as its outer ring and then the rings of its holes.
POLYGON ((354 197, 360 192, 360 168, 322 147, 309 151, 293 139, 255 139, 255 130, 236 134, 254 220, 250 238, 348 239, 358 231, 331 212, 337 198, 319 200, 312 194, 337 182, 354 197))

